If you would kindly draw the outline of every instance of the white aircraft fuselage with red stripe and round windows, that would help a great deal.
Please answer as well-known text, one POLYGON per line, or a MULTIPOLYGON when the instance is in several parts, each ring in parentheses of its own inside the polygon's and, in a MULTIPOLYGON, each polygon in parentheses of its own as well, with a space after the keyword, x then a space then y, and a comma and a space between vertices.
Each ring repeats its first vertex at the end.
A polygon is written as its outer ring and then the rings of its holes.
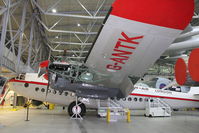
MULTIPOLYGON (((124 108, 129 109, 145 109, 146 102, 149 99, 153 102, 153 98, 160 98, 173 109, 199 108, 199 89, 195 87, 161 89, 170 83, 171 81, 165 78, 155 78, 151 81, 138 83, 129 96, 115 100, 124 108)), ((76 113, 74 110, 76 108, 75 94, 70 91, 59 93, 59 91, 49 88, 46 96, 48 80, 45 79, 45 76, 38 77, 38 73, 20 74, 17 78, 10 79, 7 85, 8 88, 24 97, 68 106, 70 116, 76 113)), ((96 99, 81 98, 79 101, 82 102, 79 105, 82 116, 85 115, 86 108, 98 108, 96 99)))

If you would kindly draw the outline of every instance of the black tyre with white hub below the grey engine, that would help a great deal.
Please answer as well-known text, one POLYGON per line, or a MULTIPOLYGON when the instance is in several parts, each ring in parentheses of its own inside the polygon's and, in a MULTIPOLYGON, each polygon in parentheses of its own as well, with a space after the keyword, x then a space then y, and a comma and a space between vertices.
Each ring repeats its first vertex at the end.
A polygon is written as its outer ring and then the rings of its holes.
POLYGON ((77 116, 80 115, 81 117, 83 117, 86 114, 86 106, 79 101, 76 106, 76 102, 74 101, 68 106, 68 114, 70 116, 77 114, 77 116))

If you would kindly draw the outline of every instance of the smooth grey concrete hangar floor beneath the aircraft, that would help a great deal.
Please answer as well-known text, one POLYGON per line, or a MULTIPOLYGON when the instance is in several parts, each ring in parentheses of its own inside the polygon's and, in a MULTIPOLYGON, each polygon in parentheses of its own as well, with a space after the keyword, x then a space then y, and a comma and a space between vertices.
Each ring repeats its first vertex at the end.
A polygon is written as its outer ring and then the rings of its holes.
POLYGON ((147 118, 134 111, 131 123, 107 124, 93 113, 83 121, 70 120, 67 113, 56 110, 30 110, 30 121, 24 121, 26 110, 0 110, 0 133, 199 133, 199 112, 175 112, 172 117, 147 118))

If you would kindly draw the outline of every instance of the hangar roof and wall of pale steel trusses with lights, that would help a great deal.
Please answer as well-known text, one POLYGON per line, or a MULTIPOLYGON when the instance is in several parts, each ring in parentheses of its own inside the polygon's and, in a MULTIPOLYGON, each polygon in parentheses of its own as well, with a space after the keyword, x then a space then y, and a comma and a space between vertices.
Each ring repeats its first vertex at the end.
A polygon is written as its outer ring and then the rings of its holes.
MULTIPOLYGON (((59 60, 63 56, 84 61, 112 3, 113 0, 2 0, 2 73, 36 71, 41 61, 59 60)), ((195 13, 188 31, 199 25, 198 6, 195 0, 195 13)), ((179 53, 184 56, 194 47, 179 48, 179 53)), ((160 63, 150 70, 158 71, 160 64, 163 68, 159 71, 167 71, 164 66, 172 64, 168 58, 179 53, 163 55, 160 63)))

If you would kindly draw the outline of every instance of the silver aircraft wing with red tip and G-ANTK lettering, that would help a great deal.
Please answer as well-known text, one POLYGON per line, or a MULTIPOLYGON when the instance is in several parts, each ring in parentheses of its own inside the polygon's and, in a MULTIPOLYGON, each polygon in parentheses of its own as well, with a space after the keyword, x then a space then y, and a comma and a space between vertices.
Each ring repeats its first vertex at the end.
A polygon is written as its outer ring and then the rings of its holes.
POLYGON ((193 0, 116 0, 85 61, 111 77, 95 84, 128 95, 189 24, 193 10, 193 0))

